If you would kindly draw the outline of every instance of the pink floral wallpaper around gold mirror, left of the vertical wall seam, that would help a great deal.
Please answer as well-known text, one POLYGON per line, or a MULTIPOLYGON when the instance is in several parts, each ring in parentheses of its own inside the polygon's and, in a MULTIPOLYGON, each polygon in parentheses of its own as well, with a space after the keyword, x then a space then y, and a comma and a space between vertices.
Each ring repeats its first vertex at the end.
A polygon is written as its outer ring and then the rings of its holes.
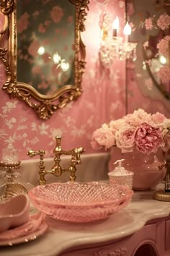
MULTIPOLYGON (((20 159, 28 159, 27 150, 30 148, 46 150, 46 156, 52 156, 55 136, 62 135, 63 149, 82 146, 86 153, 96 152, 90 144, 94 129, 104 121, 125 114, 125 62, 115 61, 112 68, 106 70, 99 61, 99 17, 107 10, 113 20, 117 15, 123 22, 125 2, 90 1, 86 31, 82 33, 86 45, 86 71, 82 81, 83 93, 78 101, 57 111, 51 119, 42 121, 22 101, 11 100, 3 90, 0 91, 1 149, 12 143, 19 150, 20 159)), ((0 85, 5 79, 4 66, 0 64, 0 85)))

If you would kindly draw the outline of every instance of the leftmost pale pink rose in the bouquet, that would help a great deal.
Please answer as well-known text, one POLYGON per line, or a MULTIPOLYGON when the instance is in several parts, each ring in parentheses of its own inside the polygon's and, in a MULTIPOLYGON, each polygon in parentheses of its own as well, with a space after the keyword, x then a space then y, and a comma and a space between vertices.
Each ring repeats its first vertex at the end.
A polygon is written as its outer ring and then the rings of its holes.
POLYGON ((94 131, 92 135, 92 148, 99 149, 99 145, 105 146, 105 149, 115 145, 115 131, 108 127, 107 124, 103 124, 102 127, 94 131))

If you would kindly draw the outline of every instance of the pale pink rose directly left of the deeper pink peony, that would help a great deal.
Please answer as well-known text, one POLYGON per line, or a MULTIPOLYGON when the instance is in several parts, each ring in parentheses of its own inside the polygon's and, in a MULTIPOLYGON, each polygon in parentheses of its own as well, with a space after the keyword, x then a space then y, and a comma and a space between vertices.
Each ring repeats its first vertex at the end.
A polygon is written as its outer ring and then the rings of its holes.
POLYGON ((116 132, 116 145, 117 148, 121 148, 122 153, 133 152, 135 145, 135 127, 122 127, 116 132))

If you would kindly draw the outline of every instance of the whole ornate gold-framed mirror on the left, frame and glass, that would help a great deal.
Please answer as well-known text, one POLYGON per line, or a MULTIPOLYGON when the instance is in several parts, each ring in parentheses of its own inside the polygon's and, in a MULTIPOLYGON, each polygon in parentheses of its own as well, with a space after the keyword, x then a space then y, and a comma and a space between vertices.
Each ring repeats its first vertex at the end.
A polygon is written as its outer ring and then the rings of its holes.
POLYGON ((40 119, 49 119, 81 95, 86 64, 81 32, 88 4, 0 1, 0 59, 6 73, 2 89, 27 103, 40 119))

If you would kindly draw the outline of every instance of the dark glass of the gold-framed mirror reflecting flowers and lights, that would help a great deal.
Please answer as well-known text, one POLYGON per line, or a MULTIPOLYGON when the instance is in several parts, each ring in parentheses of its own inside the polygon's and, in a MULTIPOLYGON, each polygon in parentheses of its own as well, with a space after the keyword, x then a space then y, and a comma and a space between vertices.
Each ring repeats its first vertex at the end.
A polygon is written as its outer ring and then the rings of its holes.
POLYGON ((17 81, 43 95, 74 84, 74 22, 68 0, 17 0, 17 81))

